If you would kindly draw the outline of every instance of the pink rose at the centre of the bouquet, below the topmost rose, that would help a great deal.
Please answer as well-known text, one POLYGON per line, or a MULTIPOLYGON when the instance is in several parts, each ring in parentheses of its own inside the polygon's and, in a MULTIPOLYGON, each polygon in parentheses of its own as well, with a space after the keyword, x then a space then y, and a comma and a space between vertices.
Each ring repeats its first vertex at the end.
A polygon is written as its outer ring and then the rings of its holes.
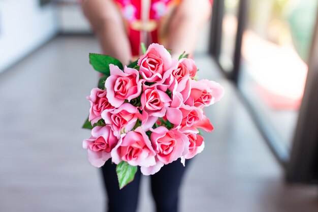
POLYGON ((141 95, 141 110, 145 110, 149 116, 163 117, 166 114, 171 99, 156 86, 143 86, 144 92, 141 95))

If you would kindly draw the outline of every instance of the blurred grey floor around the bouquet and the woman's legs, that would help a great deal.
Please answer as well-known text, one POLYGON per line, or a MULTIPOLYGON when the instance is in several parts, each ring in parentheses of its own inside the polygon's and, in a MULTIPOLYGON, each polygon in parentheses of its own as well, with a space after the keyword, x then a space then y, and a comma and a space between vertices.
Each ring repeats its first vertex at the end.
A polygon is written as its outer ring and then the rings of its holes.
MULTIPOLYGON (((81 129, 97 82, 88 52, 98 51, 92 38, 60 37, 0 75, 1 212, 104 211, 81 129)), ((196 62, 200 78, 220 82, 226 95, 206 111, 215 130, 185 176, 181 211, 317 211, 316 187, 284 184, 233 85, 209 57, 196 62)), ((152 211, 148 177, 142 182, 139 212, 152 211)))

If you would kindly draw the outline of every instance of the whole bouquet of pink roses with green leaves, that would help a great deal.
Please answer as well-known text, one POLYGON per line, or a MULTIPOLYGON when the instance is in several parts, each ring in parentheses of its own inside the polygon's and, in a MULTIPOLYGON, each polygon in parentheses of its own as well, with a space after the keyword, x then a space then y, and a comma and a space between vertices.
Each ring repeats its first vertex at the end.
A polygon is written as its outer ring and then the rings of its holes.
POLYGON ((144 175, 164 165, 193 158, 204 148, 199 129, 213 126, 203 108, 219 101, 224 88, 197 80, 193 59, 172 59, 164 46, 153 43, 129 66, 102 54, 89 54, 90 64, 102 73, 98 88, 87 100, 89 116, 83 141, 91 165, 107 160, 117 164, 119 187, 134 179, 137 166, 144 175))

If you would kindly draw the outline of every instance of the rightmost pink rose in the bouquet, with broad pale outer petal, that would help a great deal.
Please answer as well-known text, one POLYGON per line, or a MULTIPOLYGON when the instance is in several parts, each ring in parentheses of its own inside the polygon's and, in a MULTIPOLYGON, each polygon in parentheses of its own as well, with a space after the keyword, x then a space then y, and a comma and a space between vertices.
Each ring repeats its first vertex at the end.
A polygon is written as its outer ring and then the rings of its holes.
POLYGON ((214 104, 224 95, 224 88, 209 80, 191 80, 190 95, 184 102, 187 105, 203 108, 214 104))

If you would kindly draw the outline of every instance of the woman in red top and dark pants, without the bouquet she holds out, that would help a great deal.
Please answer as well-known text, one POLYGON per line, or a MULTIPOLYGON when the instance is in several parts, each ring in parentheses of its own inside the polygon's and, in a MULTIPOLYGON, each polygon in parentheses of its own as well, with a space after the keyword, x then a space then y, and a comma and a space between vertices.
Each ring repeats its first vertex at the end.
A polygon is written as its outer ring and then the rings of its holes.
MULTIPOLYGON (((185 51, 193 55, 198 31, 211 15, 209 0, 83 0, 82 8, 99 38, 103 54, 123 65, 141 55, 140 43, 160 43, 177 58, 185 51)), ((102 167, 109 212, 135 212, 141 172, 122 190, 118 188, 116 165, 102 167)), ((185 167, 180 161, 165 165, 151 175, 151 191, 157 212, 177 212, 179 187, 185 167)))

